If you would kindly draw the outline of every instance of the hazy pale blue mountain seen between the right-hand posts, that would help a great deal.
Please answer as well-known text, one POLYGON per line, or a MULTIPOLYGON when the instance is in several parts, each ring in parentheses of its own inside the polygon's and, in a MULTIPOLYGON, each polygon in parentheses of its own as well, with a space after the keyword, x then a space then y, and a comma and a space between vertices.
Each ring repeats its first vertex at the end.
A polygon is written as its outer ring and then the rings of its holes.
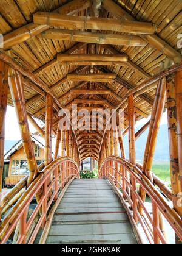
MULTIPOLYGON (((140 130, 141 127, 136 129, 136 132, 140 130)), ((140 138, 136 141, 136 159, 143 160, 144 151, 147 141, 149 129, 141 135, 140 138)), ((124 144, 126 149, 127 158, 129 158, 128 154, 128 135, 124 137, 124 144)), ((169 160, 169 140, 168 140, 168 127, 167 124, 161 125, 160 132, 158 134, 157 147, 155 151, 154 160, 169 160)))

